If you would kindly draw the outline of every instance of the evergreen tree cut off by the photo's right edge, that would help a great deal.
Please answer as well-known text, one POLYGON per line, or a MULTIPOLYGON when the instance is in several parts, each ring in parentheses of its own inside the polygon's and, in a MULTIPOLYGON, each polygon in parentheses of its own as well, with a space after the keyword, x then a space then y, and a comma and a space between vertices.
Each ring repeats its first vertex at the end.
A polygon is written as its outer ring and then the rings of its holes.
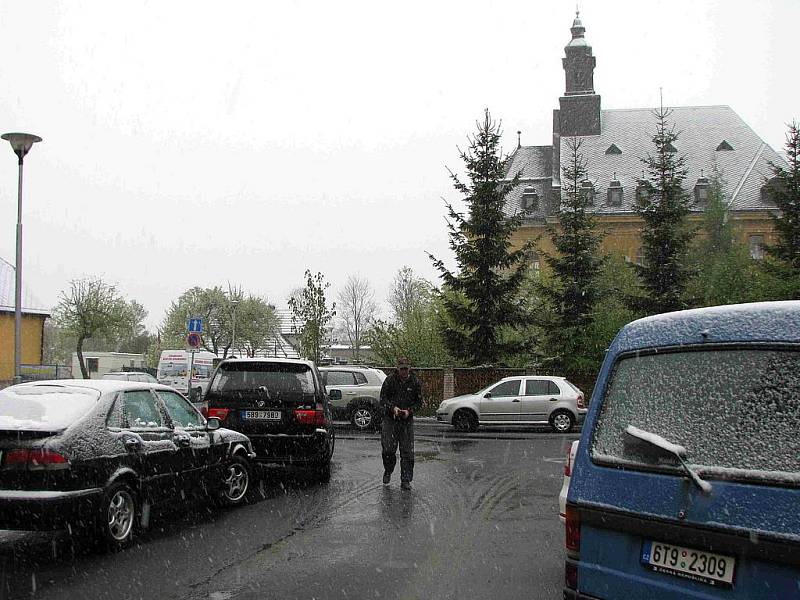
POLYGON ((777 242, 767 247, 773 261, 765 266, 786 283, 786 297, 800 298, 800 131, 797 123, 786 134, 789 168, 771 163, 774 179, 768 184, 771 200, 780 210, 773 217, 777 242))

